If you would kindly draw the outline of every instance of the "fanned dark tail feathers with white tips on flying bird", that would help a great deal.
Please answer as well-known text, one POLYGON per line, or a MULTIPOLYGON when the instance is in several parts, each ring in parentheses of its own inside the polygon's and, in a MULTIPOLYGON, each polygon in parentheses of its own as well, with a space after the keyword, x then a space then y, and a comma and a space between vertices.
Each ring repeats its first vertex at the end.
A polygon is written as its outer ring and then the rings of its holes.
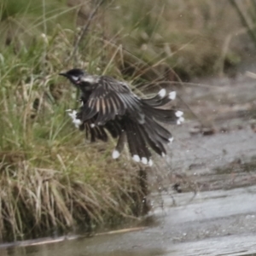
MULTIPOLYGON (((179 125, 184 120, 183 112, 159 107, 172 102, 175 97, 175 91, 167 93, 166 89, 162 89, 156 96, 140 101, 143 119, 135 118, 134 111, 123 119, 123 127, 133 160, 151 166, 152 160, 149 148, 161 156, 166 155, 165 146, 167 143, 172 143, 173 137, 172 133, 158 122, 179 125)), ((118 148, 117 146, 113 150, 113 158, 119 157, 120 150, 118 148)))

